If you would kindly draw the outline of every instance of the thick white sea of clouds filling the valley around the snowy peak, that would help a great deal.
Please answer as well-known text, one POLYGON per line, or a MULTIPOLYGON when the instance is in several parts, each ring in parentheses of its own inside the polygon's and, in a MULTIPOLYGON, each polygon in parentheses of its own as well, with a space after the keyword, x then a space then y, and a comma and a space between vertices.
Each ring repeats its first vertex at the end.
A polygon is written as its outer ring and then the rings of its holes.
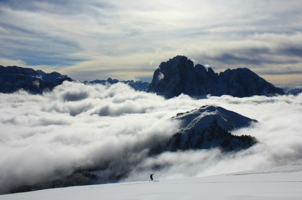
POLYGON ((0 193, 24 184, 96 171, 104 181, 203 176, 280 165, 302 165, 302 95, 164 99, 112 86, 64 82, 52 92, 0 94, 0 193), (235 130, 259 144, 236 153, 219 149, 150 156, 181 125, 170 120, 203 105, 221 106, 259 121, 235 130), (108 179, 109 180, 109 179, 108 179))

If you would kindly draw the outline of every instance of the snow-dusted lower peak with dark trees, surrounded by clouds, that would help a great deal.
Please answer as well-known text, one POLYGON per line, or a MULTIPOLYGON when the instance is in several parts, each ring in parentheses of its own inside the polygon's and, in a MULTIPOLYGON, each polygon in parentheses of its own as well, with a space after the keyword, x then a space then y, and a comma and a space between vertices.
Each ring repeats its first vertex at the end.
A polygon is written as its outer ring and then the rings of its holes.
POLYGON ((166 150, 220 148, 223 151, 247 149, 257 143, 251 136, 235 136, 230 130, 257 122, 222 107, 202 106, 172 118, 181 120, 182 128, 169 141, 166 150))

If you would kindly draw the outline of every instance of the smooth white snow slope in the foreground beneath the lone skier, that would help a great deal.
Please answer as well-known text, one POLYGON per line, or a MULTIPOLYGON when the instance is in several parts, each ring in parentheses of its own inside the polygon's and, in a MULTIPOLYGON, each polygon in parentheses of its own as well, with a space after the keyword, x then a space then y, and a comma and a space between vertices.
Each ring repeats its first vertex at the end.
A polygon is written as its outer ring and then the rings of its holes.
POLYGON ((302 199, 302 166, 168 180, 154 176, 155 181, 46 189, 0 199, 302 199))

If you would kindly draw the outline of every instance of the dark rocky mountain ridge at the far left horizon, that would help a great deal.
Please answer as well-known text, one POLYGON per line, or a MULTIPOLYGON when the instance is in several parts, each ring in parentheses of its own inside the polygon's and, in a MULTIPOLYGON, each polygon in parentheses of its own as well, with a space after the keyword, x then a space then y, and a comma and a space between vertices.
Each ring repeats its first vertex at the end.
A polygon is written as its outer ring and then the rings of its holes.
POLYGON ((63 81, 72 80, 57 72, 46 74, 41 70, 0 65, 0 92, 2 93, 12 93, 24 89, 33 94, 41 94, 43 90, 51 90, 62 84, 63 81))

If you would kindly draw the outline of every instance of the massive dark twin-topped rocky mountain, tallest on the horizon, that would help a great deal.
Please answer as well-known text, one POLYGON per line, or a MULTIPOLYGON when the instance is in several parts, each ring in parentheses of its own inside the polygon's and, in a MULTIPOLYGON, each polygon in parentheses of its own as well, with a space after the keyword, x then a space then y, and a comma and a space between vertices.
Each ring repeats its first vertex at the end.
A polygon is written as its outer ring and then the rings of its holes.
POLYGON ((160 64, 147 91, 166 98, 182 93, 192 97, 207 94, 234 97, 284 94, 281 88, 274 87, 247 68, 228 69, 218 75, 201 64, 194 66, 191 60, 180 55, 160 64))

